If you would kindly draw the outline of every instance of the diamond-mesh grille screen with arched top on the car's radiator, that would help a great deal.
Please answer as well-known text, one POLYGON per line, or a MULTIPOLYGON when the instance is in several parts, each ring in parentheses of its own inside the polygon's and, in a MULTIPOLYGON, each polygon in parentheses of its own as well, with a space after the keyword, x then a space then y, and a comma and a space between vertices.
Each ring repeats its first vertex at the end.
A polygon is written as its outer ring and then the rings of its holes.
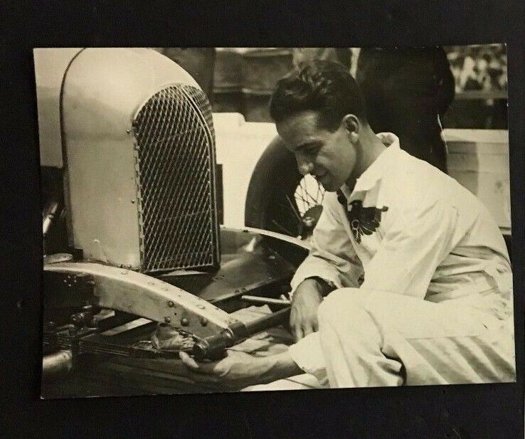
POLYGON ((218 265, 215 133, 201 90, 153 95, 133 122, 143 272, 218 265))

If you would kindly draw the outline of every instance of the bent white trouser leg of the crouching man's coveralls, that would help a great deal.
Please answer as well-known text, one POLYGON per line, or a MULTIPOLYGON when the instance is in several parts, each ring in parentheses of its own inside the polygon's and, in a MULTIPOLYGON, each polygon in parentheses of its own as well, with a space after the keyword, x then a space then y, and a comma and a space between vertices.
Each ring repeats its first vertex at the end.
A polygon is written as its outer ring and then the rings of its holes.
POLYGON ((515 381, 508 322, 450 300, 343 288, 319 307, 331 387, 515 381))

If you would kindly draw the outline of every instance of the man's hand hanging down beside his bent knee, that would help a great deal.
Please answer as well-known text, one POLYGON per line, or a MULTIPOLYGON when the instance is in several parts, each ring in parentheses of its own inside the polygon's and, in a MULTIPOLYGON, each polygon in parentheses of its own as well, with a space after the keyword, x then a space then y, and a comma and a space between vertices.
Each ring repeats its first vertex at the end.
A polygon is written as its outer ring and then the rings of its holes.
POLYGON ((317 332, 317 308, 322 300, 322 287, 317 280, 305 279, 295 290, 290 311, 290 327, 296 341, 317 332))

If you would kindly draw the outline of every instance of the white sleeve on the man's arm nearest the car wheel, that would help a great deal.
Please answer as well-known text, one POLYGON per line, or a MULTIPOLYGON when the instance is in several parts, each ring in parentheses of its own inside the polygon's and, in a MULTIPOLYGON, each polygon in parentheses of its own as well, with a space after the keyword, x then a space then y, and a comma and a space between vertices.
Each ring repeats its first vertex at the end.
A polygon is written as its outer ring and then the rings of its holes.
POLYGON ((344 211, 336 194, 327 192, 321 217, 314 228, 312 250, 292 278, 290 296, 307 277, 321 277, 337 288, 359 286, 363 268, 341 215, 344 215, 344 211))

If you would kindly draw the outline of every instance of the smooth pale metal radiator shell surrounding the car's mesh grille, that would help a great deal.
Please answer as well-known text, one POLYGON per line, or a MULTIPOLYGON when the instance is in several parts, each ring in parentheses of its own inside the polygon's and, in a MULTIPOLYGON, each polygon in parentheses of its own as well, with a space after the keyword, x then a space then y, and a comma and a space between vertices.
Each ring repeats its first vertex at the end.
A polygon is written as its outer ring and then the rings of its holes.
MULTIPOLYGON (((70 243, 88 260, 144 273, 218 265, 214 143, 207 153, 211 170, 206 174, 211 212, 206 221, 215 240, 211 257, 203 263, 161 267, 144 260, 148 237, 142 230, 144 187, 133 122, 152 96, 170 87, 200 90, 184 69, 149 49, 88 48, 66 70, 60 115, 68 228, 70 243)), ((157 213, 164 207, 157 206, 157 213)), ((191 248, 192 243, 186 245, 191 248)))

